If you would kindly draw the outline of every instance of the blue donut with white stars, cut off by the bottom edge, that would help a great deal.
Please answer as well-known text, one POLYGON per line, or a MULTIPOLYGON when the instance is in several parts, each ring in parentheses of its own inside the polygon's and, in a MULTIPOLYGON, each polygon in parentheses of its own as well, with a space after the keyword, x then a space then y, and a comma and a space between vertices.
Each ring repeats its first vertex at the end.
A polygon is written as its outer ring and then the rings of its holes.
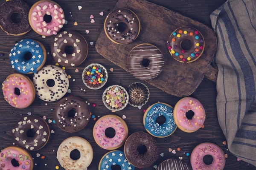
POLYGON ((125 153, 120 150, 113 150, 106 153, 100 163, 99 170, 111 170, 112 165, 119 165, 121 170, 134 170, 134 166, 125 158, 125 153))

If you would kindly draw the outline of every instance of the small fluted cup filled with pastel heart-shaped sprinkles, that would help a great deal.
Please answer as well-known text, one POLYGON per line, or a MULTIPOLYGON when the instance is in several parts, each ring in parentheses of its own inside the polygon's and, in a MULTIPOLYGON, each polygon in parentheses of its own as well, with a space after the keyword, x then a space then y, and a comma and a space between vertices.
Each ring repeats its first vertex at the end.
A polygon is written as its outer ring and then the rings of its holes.
POLYGON ((104 91, 102 101, 109 110, 121 111, 127 106, 129 95, 122 86, 111 85, 104 91))

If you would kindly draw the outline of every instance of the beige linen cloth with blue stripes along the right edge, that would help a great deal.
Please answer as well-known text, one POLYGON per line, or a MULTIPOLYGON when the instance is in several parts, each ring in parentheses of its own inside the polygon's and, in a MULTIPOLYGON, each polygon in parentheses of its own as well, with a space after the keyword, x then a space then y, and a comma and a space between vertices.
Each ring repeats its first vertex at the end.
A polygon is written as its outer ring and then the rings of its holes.
POLYGON ((218 121, 230 152, 256 166, 256 0, 227 0, 210 19, 218 40, 218 121))

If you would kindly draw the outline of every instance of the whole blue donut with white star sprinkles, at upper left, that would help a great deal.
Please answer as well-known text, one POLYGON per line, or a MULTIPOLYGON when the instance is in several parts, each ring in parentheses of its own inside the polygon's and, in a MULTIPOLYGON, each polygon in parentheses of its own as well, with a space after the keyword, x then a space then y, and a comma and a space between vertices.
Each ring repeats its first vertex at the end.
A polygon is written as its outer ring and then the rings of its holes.
POLYGON ((15 44, 9 54, 12 68, 23 74, 36 73, 45 62, 45 48, 35 40, 24 39, 15 44), (31 59, 26 60, 24 55, 31 53, 31 59))

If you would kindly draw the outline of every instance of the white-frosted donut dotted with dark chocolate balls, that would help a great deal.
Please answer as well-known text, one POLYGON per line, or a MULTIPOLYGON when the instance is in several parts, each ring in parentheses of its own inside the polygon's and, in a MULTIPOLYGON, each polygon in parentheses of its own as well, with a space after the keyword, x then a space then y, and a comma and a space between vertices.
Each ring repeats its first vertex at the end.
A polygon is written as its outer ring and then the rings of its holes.
POLYGON ((67 74, 56 65, 45 65, 41 68, 38 73, 34 74, 33 83, 39 99, 47 102, 61 99, 69 87, 67 74))

